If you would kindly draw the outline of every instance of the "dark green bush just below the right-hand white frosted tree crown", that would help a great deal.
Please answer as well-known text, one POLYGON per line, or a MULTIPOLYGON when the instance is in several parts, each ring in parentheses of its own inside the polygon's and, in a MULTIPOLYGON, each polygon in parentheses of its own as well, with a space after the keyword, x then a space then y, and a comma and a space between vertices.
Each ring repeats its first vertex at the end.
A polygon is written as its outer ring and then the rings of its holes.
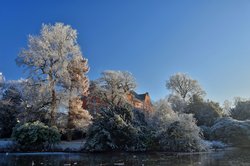
POLYGON ((204 101, 198 96, 193 96, 186 112, 194 114, 198 126, 212 126, 218 118, 222 117, 223 110, 219 103, 204 101))

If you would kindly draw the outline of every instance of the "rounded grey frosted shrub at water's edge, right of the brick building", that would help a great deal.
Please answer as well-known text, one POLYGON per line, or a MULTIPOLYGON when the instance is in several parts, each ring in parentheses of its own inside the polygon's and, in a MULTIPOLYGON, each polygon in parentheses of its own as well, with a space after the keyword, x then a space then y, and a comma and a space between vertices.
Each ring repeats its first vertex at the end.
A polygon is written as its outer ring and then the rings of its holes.
POLYGON ((171 152, 206 150, 201 136, 201 131, 190 114, 179 114, 173 123, 156 131, 159 149, 171 152))

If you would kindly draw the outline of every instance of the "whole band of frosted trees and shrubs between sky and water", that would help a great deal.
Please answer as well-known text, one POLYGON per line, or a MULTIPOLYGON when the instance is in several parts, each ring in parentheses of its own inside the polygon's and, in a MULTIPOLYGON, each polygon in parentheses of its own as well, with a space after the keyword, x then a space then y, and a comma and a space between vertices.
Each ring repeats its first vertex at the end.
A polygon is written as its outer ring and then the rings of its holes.
POLYGON ((205 91, 187 74, 166 81, 171 94, 152 103, 153 111, 128 100, 136 88, 129 72, 107 70, 89 81, 88 61, 69 25, 43 25, 16 62, 28 78, 0 78, 0 137, 12 137, 20 150, 83 138, 83 151, 193 152, 211 148, 205 140, 250 142, 250 101, 221 108, 205 100, 205 91))

